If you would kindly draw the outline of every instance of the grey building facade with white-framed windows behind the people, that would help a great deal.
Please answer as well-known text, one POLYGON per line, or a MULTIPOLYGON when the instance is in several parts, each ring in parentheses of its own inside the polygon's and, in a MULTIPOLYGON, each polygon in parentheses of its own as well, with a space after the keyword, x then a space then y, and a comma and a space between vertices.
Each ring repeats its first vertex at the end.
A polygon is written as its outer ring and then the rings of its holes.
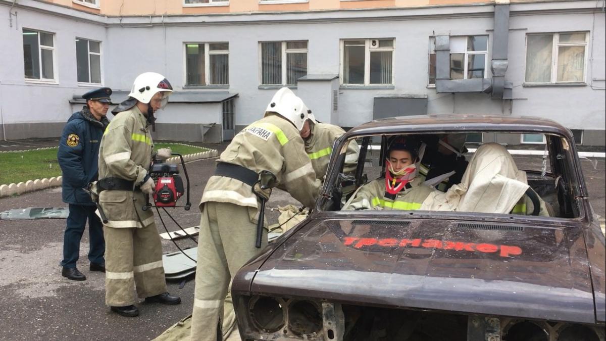
POLYGON ((0 0, 0 138, 58 137, 82 93, 119 103, 153 71, 175 89, 161 139, 229 140, 288 86, 343 127, 528 115, 604 146, 604 2, 0 0))

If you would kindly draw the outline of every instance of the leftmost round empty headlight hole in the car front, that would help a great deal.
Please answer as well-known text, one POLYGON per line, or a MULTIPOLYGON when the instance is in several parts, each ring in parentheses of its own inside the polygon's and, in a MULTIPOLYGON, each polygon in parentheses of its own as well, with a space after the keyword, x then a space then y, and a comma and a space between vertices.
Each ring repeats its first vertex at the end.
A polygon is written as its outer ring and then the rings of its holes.
POLYGON ((248 303, 251 322, 261 331, 274 333, 284 327, 284 302, 273 297, 258 296, 248 303))

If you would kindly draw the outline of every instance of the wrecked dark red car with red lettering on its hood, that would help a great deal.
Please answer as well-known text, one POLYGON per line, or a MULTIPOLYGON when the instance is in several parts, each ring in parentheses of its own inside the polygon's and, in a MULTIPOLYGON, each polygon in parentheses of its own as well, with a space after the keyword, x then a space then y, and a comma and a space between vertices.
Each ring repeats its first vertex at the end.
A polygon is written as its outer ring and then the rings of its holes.
MULTIPOLYGON (((397 333, 397 339, 407 340, 402 336, 408 335, 406 328, 397 324, 405 325, 408 316, 416 319, 416 327, 408 329, 419 329, 425 314, 436 314, 431 317, 436 329, 442 317, 448 321, 456 316, 458 322, 445 322, 452 328, 446 339, 452 340, 514 340, 525 335, 519 330, 527 325, 519 323, 539 326, 545 340, 569 340, 570 335, 604 340, 605 240, 588 201, 570 130, 538 118, 390 118, 351 129, 333 150, 344 150, 345 141, 354 137, 435 132, 545 133, 552 175, 565 181, 559 189, 562 209, 570 216, 330 211, 339 174, 335 164, 341 156, 333 152, 322 197, 307 220, 250 260, 233 281, 243 340, 388 340, 397 333), (307 308, 300 302, 309 302, 307 308), (305 329, 298 326, 304 322, 291 320, 293 314, 315 316, 313 307, 321 317, 319 328, 318 322, 305 329), (262 309, 268 310, 271 328, 263 325, 262 309), (407 312, 401 322, 367 322, 375 329, 387 323, 382 339, 356 339, 351 335, 357 329, 348 328, 361 328, 351 324, 362 323, 356 314, 366 309, 380 316, 407 312), (411 317, 410 311, 419 315, 411 317), (276 322, 280 318, 283 322, 276 322)), ((445 337, 427 326, 411 333, 421 339, 445 337)))

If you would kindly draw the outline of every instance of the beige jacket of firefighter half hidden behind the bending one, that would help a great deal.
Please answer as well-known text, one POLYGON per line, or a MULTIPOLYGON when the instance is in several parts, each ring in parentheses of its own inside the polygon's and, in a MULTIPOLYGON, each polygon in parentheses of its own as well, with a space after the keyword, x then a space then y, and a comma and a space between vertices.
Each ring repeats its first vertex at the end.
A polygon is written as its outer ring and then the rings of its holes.
MULTIPOLYGON (((316 178, 324 181, 330 154, 333 151, 335 141, 345 133, 339 126, 328 123, 311 123, 310 134, 305 138, 305 152, 311 160, 316 178)), ((352 140, 347 146, 347 154, 345 155, 345 164, 343 172, 345 174, 353 174, 356 171, 358 164, 358 155, 360 147, 355 140, 352 140)))

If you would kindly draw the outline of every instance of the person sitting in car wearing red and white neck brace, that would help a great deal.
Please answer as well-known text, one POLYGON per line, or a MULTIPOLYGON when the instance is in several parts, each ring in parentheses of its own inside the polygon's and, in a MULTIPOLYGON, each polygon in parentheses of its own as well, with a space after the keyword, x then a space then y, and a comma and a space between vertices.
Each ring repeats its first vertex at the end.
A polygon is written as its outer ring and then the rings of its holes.
POLYGON ((433 191, 416 179, 419 163, 419 143, 414 138, 390 138, 385 160, 385 177, 362 186, 344 210, 388 209, 414 211, 433 191))

